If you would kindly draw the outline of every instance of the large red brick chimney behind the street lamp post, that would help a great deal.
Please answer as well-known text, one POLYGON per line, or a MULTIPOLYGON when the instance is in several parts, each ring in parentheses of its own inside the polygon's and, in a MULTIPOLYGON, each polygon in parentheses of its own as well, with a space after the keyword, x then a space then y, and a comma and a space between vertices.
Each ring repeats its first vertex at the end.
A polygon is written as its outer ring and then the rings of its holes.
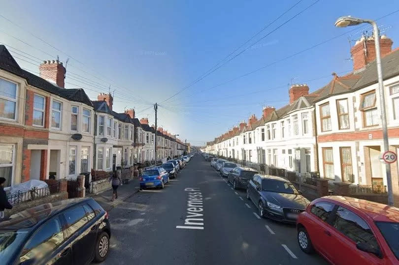
MULTIPOLYGON (((380 37, 380 52, 381 57, 389 54, 392 51, 392 40, 386 35, 380 37)), ((355 46, 351 49, 351 56, 353 59, 353 70, 359 70, 366 66, 367 63, 375 59, 375 42, 374 37, 366 38, 363 36, 356 41, 355 46)))

